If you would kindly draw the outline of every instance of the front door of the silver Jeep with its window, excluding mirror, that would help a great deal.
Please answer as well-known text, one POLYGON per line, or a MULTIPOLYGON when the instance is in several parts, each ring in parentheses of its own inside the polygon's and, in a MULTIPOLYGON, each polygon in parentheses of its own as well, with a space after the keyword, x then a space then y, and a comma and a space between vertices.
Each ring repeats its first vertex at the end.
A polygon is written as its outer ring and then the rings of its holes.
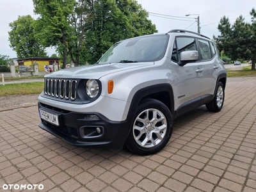
POLYGON ((182 51, 196 51, 196 38, 189 36, 180 36, 175 40, 175 45, 172 51, 173 76, 175 79, 175 86, 173 86, 173 93, 175 97, 175 109, 186 104, 187 102, 198 100, 202 95, 202 78, 204 66, 202 63, 191 61, 184 66, 180 66, 180 52, 182 51))

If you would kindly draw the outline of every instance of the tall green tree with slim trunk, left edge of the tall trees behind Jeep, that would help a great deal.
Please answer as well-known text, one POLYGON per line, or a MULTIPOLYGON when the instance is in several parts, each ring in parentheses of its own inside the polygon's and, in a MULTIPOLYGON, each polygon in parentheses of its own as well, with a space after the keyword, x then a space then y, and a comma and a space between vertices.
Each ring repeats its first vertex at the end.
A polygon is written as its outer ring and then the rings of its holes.
POLYGON ((68 44, 74 38, 74 28, 69 20, 74 12, 75 0, 33 0, 34 12, 39 15, 35 22, 36 36, 45 47, 56 47, 67 64, 68 44))

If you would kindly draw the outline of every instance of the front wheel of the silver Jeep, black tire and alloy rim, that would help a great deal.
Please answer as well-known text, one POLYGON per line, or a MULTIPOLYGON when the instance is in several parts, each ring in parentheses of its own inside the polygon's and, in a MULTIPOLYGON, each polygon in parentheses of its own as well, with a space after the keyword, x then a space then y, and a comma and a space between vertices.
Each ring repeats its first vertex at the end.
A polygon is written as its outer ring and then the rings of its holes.
POLYGON ((170 110, 159 100, 145 99, 136 109, 125 147, 140 156, 155 154, 168 143, 172 130, 170 110))

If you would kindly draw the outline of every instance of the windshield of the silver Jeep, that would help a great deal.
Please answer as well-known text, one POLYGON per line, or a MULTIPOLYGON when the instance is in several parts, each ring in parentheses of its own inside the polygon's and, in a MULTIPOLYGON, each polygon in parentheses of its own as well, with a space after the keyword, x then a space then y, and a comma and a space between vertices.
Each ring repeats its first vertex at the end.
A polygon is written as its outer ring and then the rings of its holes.
POLYGON ((131 38, 113 45, 97 63, 136 63, 163 58, 168 35, 131 38))

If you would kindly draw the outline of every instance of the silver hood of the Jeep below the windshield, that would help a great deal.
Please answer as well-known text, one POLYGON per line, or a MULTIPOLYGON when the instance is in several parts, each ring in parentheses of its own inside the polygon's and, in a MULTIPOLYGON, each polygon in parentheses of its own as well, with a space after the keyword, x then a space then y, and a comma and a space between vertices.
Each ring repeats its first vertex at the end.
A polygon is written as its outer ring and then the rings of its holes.
POLYGON ((154 65, 154 62, 147 63, 110 63, 110 64, 93 64, 83 65, 80 67, 72 67, 58 70, 46 75, 45 77, 57 78, 76 78, 76 79, 100 79, 102 76, 119 72, 122 70, 129 70, 131 68, 145 67, 154 65))

